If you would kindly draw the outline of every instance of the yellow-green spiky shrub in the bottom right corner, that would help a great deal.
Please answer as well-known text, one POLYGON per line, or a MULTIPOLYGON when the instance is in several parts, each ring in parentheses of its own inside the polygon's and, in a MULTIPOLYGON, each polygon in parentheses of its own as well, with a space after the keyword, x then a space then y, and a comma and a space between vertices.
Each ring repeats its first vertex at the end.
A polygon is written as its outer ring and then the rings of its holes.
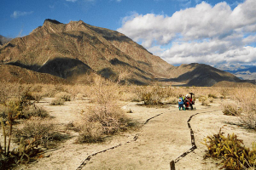
POLYGON ((204 140, 207 146, 205 158, 222 159, 222 168, 245 169, 256 166, 256 144, 253 144, 253 150, 250 150, 243 145, 241 139, 237 139, 236 134, 228 134, 225 137, 221 129, 217 134, 208 136, 204 140))

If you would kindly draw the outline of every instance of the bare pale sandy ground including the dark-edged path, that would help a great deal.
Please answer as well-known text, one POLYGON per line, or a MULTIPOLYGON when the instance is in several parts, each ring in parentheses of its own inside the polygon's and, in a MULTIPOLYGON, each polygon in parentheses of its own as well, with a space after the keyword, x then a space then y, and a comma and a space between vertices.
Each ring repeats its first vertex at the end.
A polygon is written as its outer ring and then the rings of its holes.
POLYGON ((52 106, 50 100, 43 99, 38 105, 55 117, 59 129, 68 133, 70 139, 56 150, 49 150, 38 162, 17 169, 170 169, 170 162, 177 158, 176 169, 218 169, 217 161, 203 159, 207 149, 201 144, 204 138, 218 133, 222 127, 225 134, 236 133, 247 147, 256 139, 256 133, 235 125, 239 122, 236 116, 224 116, 222 99, 214 99, 211 106, 202 106, 196 101, 195 111, 178 111, 177 105, 148 108, 134 102, 121 102, 123 109, 132 111, 127 114, 142 123, 142 127, 108 137, 101 144, 75 144, 78 133, 68 131, 65 126, 79 120, 79 113, 91 104, 86 100, 73 100, 52 106), (179 157, 192 147, 187 123, 190 116, 193 116, 189 123, 197 149, 179 157))

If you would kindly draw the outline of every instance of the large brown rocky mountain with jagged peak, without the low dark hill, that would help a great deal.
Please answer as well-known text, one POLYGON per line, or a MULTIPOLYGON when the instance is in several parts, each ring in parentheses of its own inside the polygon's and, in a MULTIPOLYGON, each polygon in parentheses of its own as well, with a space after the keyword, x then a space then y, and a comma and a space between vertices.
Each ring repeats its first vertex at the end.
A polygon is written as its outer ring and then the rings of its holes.
POLYGON ((67 80, 90 72, 115 79, 128 72, 128 82, 149 83, 166 77, 171 67, 130 38, 83 21, 61 24, 45 20, 26 37, 15 38, 0 49, 3 64, 49 73, 67 80))

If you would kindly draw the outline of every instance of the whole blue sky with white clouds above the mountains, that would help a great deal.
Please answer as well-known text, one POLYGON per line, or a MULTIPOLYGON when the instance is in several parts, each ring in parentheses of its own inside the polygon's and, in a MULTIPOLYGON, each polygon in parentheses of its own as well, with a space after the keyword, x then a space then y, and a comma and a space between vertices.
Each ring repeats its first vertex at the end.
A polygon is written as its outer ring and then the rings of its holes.
POLYGON ((1 0, 4 37, 45 19, 119 31, 172 65, 256 65, 256 0, 1 0))

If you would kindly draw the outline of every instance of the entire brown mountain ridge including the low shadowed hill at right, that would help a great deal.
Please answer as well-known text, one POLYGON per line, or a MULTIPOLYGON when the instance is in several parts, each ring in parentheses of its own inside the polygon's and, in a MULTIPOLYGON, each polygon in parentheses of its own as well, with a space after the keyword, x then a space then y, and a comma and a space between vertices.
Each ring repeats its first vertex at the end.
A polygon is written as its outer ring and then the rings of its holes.
MULTIPOLYGON (((241 82, 234 75, 210 65, 170 65, 124 34, 90 26, 82 20, 68 24, 44 20, 43 26, 26 37, 4 43, 0 47, 0 64, 16 71, 57 77, 59 82, 84 83, 88 82, 87 77, 96 74, 112 80, 125 75, 126 82, 140 85, 155 81, 187 86, 241 82)), ((6 74, 11 75, 10 72, 6 74)), ((26 79, 27 74, 23 75, 26 79)), ((35 82, 39 81, 38 77, 34 77, 35 82)))

